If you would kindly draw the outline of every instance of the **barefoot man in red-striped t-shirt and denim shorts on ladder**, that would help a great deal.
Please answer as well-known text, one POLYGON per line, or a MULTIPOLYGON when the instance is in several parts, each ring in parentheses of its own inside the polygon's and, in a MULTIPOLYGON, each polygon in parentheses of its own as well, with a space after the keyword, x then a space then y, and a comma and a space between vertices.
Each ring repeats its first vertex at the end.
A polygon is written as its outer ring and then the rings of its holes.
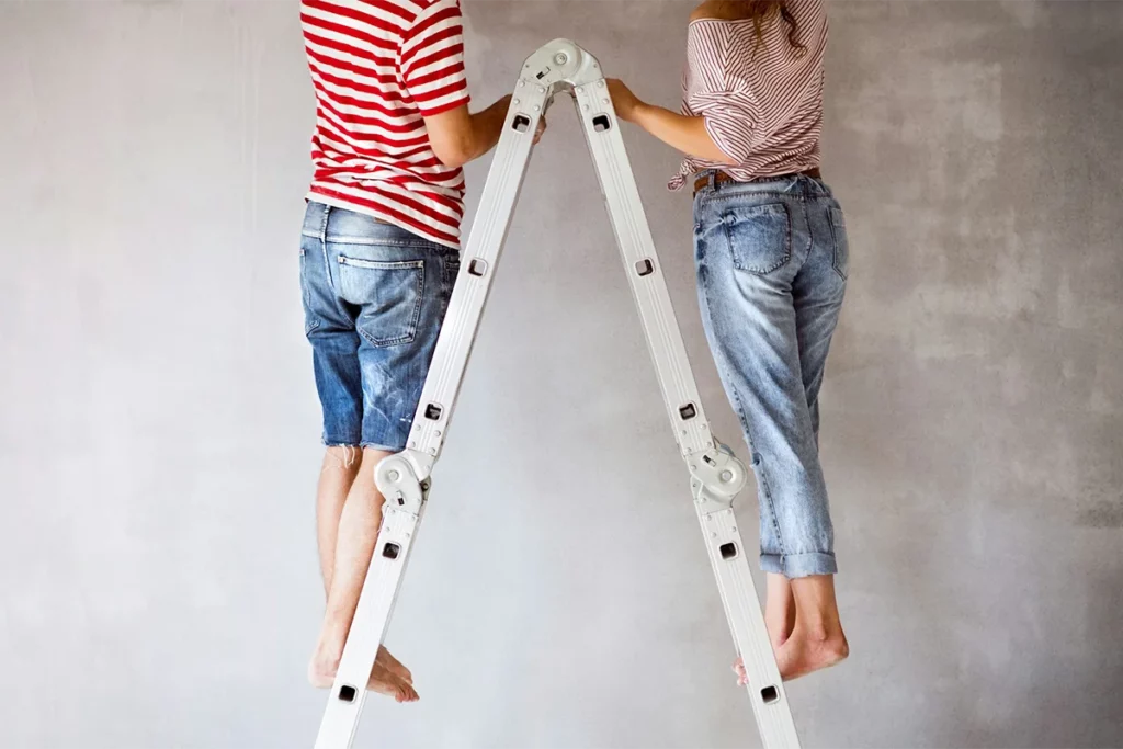
MULTIPOLYGON (((301 20, 317 102, 301 285, 327 445, 309 678, 328 687, 382 521, 374 469, 405 448, 459 267, 460 167, 497 143, 510 97, 469 113, 458 0, 302 0, 301 20)), ((369 687, 418 698, 385 649, 369 687)))

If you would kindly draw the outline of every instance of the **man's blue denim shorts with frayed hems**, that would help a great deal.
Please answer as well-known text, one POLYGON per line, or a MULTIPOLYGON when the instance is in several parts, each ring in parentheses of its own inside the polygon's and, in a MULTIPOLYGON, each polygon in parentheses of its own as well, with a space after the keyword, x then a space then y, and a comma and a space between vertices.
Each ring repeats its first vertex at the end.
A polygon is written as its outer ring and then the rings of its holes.
POLYGON ((459 252, 341 208, 308 203, 300 244, 323 442, 405 449, 459 252))

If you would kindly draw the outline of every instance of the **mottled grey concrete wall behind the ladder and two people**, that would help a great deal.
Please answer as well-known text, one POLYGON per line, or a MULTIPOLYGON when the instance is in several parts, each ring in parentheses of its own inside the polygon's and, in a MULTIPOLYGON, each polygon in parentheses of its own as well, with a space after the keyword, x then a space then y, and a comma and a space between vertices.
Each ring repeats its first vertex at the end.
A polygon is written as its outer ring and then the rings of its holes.
MULTIPOLYGON (((853 277, 822 448, 852 658, 792 685, 805 746, 1120 746, 1123 6, 832 4, 853 277)), ((676 100, 685 2, 465 7, 481 103, 559 35, 676 100)), ((311 746, 295 3, 3 0, 0 70, 0 746, 311 746)), ((743 454, 676 159, 627 137, 743 454)), ((358 746, 757 746, 564 109, 522 209, 390 634, 422 702, 373 701, 358 746)))

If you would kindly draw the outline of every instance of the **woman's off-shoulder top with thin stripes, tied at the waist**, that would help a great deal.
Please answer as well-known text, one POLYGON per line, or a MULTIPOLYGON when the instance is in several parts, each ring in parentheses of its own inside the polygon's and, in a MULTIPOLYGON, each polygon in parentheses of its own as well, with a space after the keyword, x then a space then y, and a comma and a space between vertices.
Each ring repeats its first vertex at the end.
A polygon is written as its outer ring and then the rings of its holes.
POLYGON ((720 168, 740 182, 819 166, 823 131, 822 0, 787 0, 791 27, 777 13, 757 42, 751 20, 702 19, 691 24, 683 77, 683 113, 705 118, 706 131, 728 163, 690 157, 670 188, 692 174, 720 168))

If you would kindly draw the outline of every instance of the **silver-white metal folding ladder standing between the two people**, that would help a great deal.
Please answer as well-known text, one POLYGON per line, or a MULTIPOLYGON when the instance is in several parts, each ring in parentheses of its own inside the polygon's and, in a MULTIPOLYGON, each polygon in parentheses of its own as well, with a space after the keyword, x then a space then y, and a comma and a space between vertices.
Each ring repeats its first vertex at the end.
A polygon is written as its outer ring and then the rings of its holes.
POLYGON ((609 217, 647 337, 667 415, 691 473, 691 490, 718 588, 749 677, 748 696, 765 749, 800 749, 773 654, 733 497, 745 464, 719 444, 702 410, 686 348, 667 292, 636 177, 600 63, 575 43, 556 39, 527 60, 484 186, 465 259, 413 420, 409 446, 375 474, 385 496, 375 546, 316 749, 350 749, 366 685, 385 637, 402 575, 424 513, 487 294, 503 252, 535 133, 560 92, 576 100, 609 217))

